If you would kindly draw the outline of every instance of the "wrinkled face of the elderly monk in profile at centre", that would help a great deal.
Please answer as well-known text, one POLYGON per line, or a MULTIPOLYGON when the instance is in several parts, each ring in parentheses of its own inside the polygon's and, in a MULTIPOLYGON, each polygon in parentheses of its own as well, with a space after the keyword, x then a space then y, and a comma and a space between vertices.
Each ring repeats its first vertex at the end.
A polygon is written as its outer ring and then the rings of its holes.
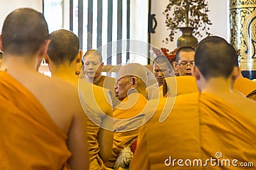
POLYGON ((123 76, 118 78, 115 83, 115 95, 120 101, 128 96, 128 90, 132 87, 131 76, 123 76))

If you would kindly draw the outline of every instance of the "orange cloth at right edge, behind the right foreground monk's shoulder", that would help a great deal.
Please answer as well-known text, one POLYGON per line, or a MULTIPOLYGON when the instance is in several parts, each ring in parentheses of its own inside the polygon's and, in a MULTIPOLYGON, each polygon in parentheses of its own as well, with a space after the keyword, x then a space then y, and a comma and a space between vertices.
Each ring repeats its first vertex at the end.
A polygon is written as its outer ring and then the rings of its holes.
POLYGON ((237 90, 249 97, 250 94, 256 95, 256 82, 249 80, 248 78, 237 78, 233 86, 234 90, 237 90))

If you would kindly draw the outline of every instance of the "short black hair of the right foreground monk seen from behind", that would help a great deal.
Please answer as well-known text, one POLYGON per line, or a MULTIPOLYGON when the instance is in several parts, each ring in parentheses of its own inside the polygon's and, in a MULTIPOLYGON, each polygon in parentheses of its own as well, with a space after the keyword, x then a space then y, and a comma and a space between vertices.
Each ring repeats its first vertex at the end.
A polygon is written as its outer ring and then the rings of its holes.
POLYGON ((232 45, 218 36, 209 36, 198 44, 195 66, 206 80, 212 77, 228 78, 238 66, 237 53, 232 45))

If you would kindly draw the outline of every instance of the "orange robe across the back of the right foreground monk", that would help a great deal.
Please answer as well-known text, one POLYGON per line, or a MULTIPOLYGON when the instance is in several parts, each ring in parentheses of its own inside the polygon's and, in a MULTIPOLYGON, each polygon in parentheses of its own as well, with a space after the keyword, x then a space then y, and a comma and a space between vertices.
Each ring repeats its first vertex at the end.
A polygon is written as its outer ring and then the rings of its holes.
MULTIPOLYGON (((197 92, 177 96, 171 114, 159 123, 167 99, 161 99, 154 116, 141 128, 131 170, 224 169, 211 166, 210 162, 207 167, 193 166, 195 159, 202 159, 205 164, 211 157, 216 159, 218 152, 222 153, 221 159, 230 160, 228 169, 241 169, 232 166, 233 159, 239 161, 237 165, 256 159, 256 125, 250 116, 237 111, 219 97, 197 92), (172 164, 166 166, 164 162, 170 157, 172 164), (178 166, 179 159, 183 160, 184 167, 178 166), (186 166, 187 159, 191 160, 192 166, 186 166)), ((170 163, 169 160, 166 164, 170 163)))

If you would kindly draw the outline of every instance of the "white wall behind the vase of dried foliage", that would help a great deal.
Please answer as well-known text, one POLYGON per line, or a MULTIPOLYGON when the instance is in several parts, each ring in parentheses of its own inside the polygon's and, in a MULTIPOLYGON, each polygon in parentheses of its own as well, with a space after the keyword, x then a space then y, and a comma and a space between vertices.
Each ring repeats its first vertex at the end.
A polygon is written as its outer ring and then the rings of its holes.
MULTIPOLYGON (((209 3, 209 19, 212 22, 210 26, 210 32, 213 35, 221 36, 227 41, 228 39, 228 1, 229 0, 208 0, 209 3)), ((166 29, 164 24, 165 17, 163 11, 165 10, 168 4, 168 0, 152 0, 151 13, 156 14, 157 27, 156 33, 151 34, 151 44, 157 46, 157 48, 167 48, 170 51, 176 48, 175 41, 168 44, 164 43, 163 40, 168 36, 169 32, 166 29)), ((177 31, 174 39, 177 39, 181 36, 181 32, 177 31)), ((201 38, 202 39, 202 38, 201 38)), ((200 41, 200 38, 198 38, 200 41)))

